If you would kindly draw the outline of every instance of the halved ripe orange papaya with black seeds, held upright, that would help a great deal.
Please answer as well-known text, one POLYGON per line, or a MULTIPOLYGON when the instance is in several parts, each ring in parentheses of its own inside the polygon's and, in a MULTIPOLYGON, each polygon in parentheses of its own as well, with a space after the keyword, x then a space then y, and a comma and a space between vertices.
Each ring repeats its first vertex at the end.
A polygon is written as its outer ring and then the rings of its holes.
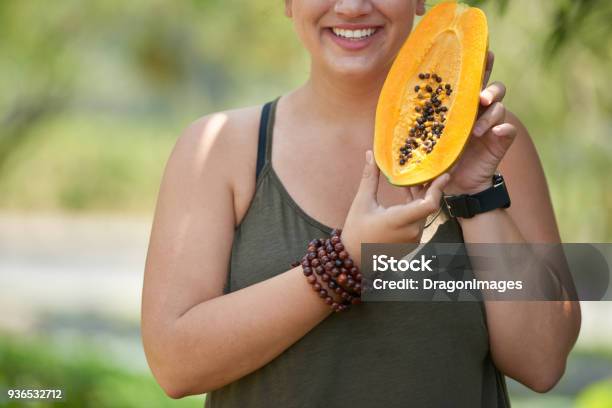
POLYGON ((478 8, 431 9, 399 51, 376 108, 374 157, 395 185, 422 184, 459 158, 478 113, 488 28, 478 8))

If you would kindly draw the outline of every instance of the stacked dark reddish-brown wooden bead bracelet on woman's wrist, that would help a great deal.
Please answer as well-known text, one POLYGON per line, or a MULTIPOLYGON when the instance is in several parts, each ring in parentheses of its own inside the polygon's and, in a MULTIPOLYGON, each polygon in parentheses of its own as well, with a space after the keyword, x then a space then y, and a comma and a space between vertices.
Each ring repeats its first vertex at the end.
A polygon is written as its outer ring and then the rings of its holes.
POLYGON ((310 241, 302 261, 292 264, 294 267, 302 265, 308 283, 334 312, 361 303, 362 275, 344 248, 341 233, 335 229, 330 238, 310 241), (337 299, 330 296, 330 292, 336 294, 337 299))

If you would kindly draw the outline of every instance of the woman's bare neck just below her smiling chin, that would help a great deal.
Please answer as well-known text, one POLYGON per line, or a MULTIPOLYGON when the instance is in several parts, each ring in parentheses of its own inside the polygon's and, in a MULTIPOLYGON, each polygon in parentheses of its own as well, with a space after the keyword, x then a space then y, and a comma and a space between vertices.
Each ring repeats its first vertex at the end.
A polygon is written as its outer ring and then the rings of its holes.
POLYGON ((304 102, 320 118, 355 123, 372 122, 386 71, 370 77, 348 77, 311 64, 308 82, 301 89, 304 102))

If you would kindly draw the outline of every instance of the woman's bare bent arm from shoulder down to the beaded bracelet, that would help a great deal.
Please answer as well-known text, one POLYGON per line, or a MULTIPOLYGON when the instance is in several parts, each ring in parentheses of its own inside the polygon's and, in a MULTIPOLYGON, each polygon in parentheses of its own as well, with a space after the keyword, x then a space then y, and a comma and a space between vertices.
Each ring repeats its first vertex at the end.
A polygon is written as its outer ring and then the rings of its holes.
POLYGON ((256 370, 330 313, 300 268, 222 296, 235 226, 227 122, 214 115, 177 142, 151 232, 142 336, 151 370, 173 398, 256 370))

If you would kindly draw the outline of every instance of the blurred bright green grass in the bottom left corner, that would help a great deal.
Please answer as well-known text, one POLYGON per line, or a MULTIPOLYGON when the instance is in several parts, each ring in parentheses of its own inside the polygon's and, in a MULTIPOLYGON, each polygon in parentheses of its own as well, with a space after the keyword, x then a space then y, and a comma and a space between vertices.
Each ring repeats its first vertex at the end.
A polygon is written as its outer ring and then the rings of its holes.
MULTIPOLYGON (((62 350, 44 338, 0 336, 0 389, 63 389, 65 400, 8 402, 6 407, 201 407, 203 397, 168 398, 150 375, 108 363, 96 350, 62 350)), ((4 398, 4 396, 2 396, 4 398)))

